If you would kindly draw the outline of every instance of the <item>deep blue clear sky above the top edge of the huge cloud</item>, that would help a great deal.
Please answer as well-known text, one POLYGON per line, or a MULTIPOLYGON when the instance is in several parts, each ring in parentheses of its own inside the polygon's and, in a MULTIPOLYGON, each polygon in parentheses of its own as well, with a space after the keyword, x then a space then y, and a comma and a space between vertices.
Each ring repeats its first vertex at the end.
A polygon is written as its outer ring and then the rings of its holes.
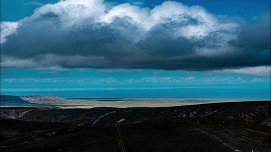
MULTIPOLYGON (((33 14, 33 11, 46 3, 59 0, 1 0, 1 20, 16 21, 33 14)), ((140 2, 144 6, 153 7, 166 0, 110 0, 115 3, 140 2)), ((176 0, 187 5, 202 5, 208 11, 222 15, 243 16, 253 18, 270 12, 270 0, 176 0)))

